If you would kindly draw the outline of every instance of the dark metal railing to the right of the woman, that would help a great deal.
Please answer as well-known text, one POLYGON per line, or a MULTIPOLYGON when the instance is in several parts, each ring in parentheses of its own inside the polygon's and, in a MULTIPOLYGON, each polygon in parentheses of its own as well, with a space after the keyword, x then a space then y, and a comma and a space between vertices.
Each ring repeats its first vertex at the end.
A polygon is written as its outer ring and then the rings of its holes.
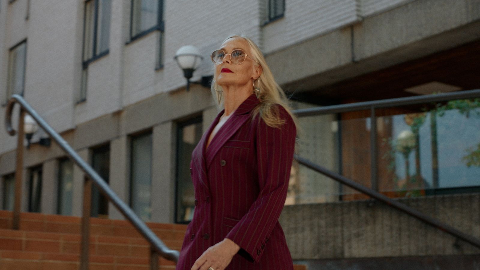
POLYGON ((312 169, 315 172, 319 172, 324 174, 325 176, 341 183, 345 184, 363 194, 366 194, 373 199, 376 199, 389 207, 394 209, 398 209, 409 216, 412 216, 420 221, 423 221, 433 227, 444 231, 445 233, 449 233, 454 237, 457 237, 461 240, 466 241, 467 243, 474 245, 480 248, 480 239, 469 235, 467 233, 463 233, 456 228, 439 221, 437 219, 432 218, 426 214, 421 213, 420 211, 413 209, 406 204, 400 203, 392 198, 389 198, 381 193, 378 192, 378 182, 377 182, 377 159, 376 159, 376 117, 375 117, 375 109, 378 108, 387 108, 387 107, 395 107, 401 105, 413 105, 413 104, 421 104, 427 102, 442 102, 447 100, 454 100, 454 99, 464 99, 464 98, 479 98, 480 97, 480 89, 476 90, 468 90, 468 91, 461 91, 461 92, 454 92, 454 93, 442 93, 442 94, 435 94, 435 95, 424 95, 418 97, 407 97, 407 98, 391 98, 391 99, 383 99, 383 100, 375 100, 375 101, 366 101, 366 102, 358 102, 358 103, 349 103, 349 104, 341 104, 341 105, 333 105, 333 106, 324 106, 324 107, 315 107, 315 108, 308 108, 308 109, 300 109, 294 110, 293 113, 296 114, 298 117, 301 116, 314 116, 314 115, 322 115, 322 114, 332 114, 332 113, 341 113, 341 112, 348 112, 348 111, 356 111, 356 110, 371 110, 371 132, 370 132, 370 147, 371 147, 371 170, 372 170, 372 187, 375 189, 366 187, 362 184, 358 184, 355 181, 348 179, 336 172, 332 172, 323 168, 322 166, 313 163, 310 160, 304 159, 298 155, 294 155, 294 159, 297 160, 300 164, 306 166, 307 168, 312 169))

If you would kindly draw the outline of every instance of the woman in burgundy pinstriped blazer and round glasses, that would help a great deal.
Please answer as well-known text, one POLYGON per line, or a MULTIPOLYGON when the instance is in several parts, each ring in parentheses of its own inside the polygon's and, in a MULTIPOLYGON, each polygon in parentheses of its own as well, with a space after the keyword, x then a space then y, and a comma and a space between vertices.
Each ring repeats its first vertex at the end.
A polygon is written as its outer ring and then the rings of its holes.
POLYGON ((292 270, 278 217, 287 196, 295 117, 251 39, 212 53, 224 110, 192 152, 195 211, 177 270, 292 270))

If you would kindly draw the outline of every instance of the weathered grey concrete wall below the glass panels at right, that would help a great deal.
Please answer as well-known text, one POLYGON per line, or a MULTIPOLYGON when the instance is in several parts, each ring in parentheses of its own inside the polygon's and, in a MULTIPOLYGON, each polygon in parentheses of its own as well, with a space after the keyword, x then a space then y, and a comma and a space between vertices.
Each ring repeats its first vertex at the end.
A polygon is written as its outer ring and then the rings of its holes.
MULTIPOLYGON (((480 237, 479 194, 398 201, 480 237)), ((480 254, 479 248, 380 202, 286 206, 280 223, 297 260, 480 254)))

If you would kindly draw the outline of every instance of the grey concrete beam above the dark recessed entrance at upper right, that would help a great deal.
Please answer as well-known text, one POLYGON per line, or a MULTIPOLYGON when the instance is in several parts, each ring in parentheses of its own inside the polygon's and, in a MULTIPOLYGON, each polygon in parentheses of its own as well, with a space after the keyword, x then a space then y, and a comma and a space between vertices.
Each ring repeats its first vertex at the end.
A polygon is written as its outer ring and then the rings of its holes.
POLYGON ((385 10, 356 24, 269 53, 277 82, 289 91, 314 90, 480 37, 478 0, 392 1, 392 9, 380 2, 365 3, 385 10))

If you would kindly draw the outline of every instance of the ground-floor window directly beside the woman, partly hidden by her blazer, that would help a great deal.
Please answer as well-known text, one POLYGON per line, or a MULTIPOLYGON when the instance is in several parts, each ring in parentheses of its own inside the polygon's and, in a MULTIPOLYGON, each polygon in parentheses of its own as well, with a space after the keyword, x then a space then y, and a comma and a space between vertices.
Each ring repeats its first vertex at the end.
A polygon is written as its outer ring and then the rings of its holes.
POLYGON ((190 174, 190 161, 193 148, 202 137, 202 117, 179 123, 177 127, 177 196, 175 222, 186 223, 192 220, 195 208, 195 194, 193 192, 190 174))

